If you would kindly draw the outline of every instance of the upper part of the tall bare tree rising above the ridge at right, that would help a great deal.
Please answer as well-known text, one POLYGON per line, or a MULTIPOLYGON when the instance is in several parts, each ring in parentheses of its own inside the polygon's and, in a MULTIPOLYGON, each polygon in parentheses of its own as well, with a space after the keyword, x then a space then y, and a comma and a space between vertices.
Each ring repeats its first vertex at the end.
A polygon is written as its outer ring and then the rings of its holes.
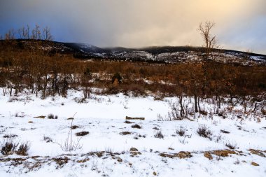
POLYGON ((202 38, 204 40, 204 47, 206 48, 206 54, 205 59, 208 59, 211 55, 211 50, 216 47, 216 36, 211 35, 211 29, 213 29, 215 26, 214 22, 202 22, 199 25, 199 28, 197 29, 200 31, 200 34, 202 35, 202 38))

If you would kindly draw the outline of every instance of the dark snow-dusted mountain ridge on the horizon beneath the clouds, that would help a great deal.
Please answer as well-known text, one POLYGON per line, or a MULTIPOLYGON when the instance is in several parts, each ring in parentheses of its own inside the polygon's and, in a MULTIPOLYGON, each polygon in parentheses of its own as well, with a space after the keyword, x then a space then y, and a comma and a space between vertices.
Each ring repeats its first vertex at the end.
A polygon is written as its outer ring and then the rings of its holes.
MULTIPOLYGON (((16 40, 30 43, 32 40, 16 40)), ((3 42, 3 40, 2 40, 3 42)), ((117 59, 141 62, 176 63, 198 60, 204 55, 204 48, 192 46, 155 46, 146 48, 99 48, 88 43, 50 42, 50 48, 62 54, 73 54, 78 59, 117 59)), ((47 47, 47 46, 46 46, 47 47)), ((266 64, 266 55, 237 50, 213 50, 211 59, 218 62, 241 64, 266 64)))

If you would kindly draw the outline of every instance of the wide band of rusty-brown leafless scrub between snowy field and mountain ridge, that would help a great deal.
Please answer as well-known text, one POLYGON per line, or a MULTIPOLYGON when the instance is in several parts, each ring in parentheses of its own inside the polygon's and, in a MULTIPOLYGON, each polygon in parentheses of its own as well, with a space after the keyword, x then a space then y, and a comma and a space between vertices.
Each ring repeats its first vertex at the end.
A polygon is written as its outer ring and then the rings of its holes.
POLYGON ((217 62, 148 64, 93 59, 84 62, 70 55, 33 54, 27 49, 18 49, 19 41, 12 41, 12 45, 6 43, 8 41, 0 43, 0 84, 4 94, 18 94, 27 89, 36 96, 41 93, 43 98, 54 94, 65 97, 69 88, 81 88, 87 94, 88 88, 99 87, 106 93, 149 90, 155 94, 185 94, 197 99, 216 96, 219 104, 223 94, 230 94, 231 98, 255 96, 266 90, 266 66, 217 62), (87 74, 88 69, 90 74, 87 74), (112 76, 117 72, 123 82, 115 85, 112 76))

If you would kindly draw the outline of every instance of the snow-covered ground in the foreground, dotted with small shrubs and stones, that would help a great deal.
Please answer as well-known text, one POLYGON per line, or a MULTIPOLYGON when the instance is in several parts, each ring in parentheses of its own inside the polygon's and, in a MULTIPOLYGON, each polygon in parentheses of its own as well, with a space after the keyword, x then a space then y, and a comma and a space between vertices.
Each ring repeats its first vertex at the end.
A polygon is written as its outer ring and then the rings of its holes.
POLYGON ((0 155, 0 176, 266 176, 263 115, 260 121, 201 114, 158 121, 158 114, 169 111, 167 100, 174 98, 92 94, 78 103, 81 97, 75 90, 67 98, 44 100, 32 94, 1 95, 1 144, 28 141, 30 149, 27 156, 0 155), (50 113, 58 118, 48 119, 50 113), (126 116, 145 120, 125 122, 126 116), (70 137, 71 117, 78 126, 72 129, 78 148, 69 152, 62 146, 70 137), (133 128, 135 124, 141 128, 133 128), (210 130, 209 138, 197 134, 202 126, 210 130), (179 129, 185 130, 183 136, 179 129), (76 136, 78 132, 89 134, 76 136), (163 139, 155 138, 158 132, 163 139))

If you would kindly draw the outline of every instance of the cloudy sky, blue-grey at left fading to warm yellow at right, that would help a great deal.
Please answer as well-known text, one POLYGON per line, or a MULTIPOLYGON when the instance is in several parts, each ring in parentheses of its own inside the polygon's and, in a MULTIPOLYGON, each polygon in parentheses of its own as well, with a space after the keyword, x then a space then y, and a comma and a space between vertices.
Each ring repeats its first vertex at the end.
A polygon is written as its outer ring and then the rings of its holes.
POLYGON ((265 0, 0 0, 0 34, 48 26, 56 41, 99 47, 202 45, 214 21, 223 48, 266 54, 265 0))

